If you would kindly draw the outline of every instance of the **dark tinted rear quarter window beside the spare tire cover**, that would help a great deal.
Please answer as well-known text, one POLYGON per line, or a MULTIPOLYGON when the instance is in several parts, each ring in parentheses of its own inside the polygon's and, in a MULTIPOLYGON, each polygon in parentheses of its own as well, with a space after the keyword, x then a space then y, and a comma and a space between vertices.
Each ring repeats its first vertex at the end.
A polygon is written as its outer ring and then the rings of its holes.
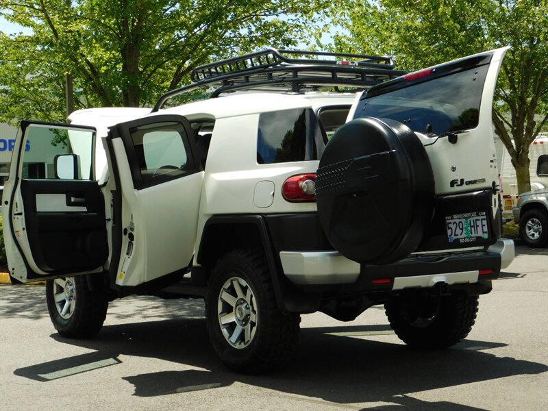
POLYGON ((258 164, 316 160, 316 116, 307 108, 262 113, 257 139, 258 164))

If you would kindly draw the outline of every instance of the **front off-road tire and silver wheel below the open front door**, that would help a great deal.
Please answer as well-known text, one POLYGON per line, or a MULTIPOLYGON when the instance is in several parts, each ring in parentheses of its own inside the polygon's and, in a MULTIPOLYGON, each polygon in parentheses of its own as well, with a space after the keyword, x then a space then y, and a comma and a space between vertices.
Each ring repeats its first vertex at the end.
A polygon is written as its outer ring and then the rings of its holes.
POLYGON ((46 301, 49 318, 57 332, 64 337, 86 338, 94 336, 103 327, 108 309, 108 294, 105 290, 90 290, 86 275, 48 279, 46 282, 46 301), (60 295, 62 282, 67 280, 73 286, 73 300, 70 302, 65 301, 65 303, 72 303, 73 309, 62 314, 62 308, 55 302, 55 295, 60 295))

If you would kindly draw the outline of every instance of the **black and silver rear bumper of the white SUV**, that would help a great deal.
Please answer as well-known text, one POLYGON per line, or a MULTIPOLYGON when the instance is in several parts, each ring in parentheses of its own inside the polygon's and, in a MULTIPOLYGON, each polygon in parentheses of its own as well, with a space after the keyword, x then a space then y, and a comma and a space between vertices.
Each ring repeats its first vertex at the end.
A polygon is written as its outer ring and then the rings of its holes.
POLYGON ((386 265, 358 264, 336 251, 281 251, 279 257, 285 275, 299 286, 353 284, 356 291, 402 290, 495 279, 514 260, 514 242, 500 238, 487 251, 410 256, 386 265))

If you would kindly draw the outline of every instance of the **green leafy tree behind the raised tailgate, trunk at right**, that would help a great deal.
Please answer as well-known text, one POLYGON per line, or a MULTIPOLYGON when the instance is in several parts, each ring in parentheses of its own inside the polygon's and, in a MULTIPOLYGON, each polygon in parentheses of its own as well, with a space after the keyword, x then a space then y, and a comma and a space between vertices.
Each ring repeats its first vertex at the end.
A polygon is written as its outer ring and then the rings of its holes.
POLYGON ((512 158, 518 190, 530 190, 529 148, 548 129, 547 0, 341 0, 348 30, 337 51, 395 55, 416 70, 506 45, 493 124, 512 158))

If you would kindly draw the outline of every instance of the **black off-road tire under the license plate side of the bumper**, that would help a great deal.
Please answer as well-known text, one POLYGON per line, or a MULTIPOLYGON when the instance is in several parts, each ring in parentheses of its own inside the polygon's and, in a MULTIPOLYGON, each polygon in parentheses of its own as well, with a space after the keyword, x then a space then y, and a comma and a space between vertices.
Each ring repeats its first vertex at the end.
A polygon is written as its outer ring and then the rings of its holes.
POLYGON ((464 292, 427 296, 412 292, 384 305, 390 327, 407 345, 419 349, 451 347, 475 323, 478 297, 464 292))

